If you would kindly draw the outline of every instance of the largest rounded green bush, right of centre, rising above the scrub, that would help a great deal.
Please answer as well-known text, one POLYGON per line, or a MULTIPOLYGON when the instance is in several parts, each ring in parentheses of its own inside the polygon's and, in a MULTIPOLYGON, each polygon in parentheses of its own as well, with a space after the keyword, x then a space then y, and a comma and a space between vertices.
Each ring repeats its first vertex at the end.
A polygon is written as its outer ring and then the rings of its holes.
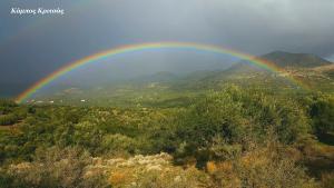
POLYGON ((237 87, 206 96, 179 123, 177 137, 185 146, 176 157, 196 156, 203 165, 217 157, 209 149, 216 138, 225 142, 222 151, 235 152, 229 145, 244 149, 249 142, 265 142, 268 132, 283 144, 294 144, 310 131, 305 110, 297 102, 237 87))

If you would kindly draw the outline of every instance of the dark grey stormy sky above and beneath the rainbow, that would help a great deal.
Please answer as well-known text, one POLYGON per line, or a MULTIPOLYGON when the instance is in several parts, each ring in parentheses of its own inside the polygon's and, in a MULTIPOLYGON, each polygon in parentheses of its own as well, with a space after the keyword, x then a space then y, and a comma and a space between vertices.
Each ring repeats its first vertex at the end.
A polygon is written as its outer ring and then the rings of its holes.
MULTIPOLYGON (((29 86, 73 60, 140 42, 199 42, 254 56, 283 50, 334 60, 333 18, 333 0, 1 0, 0 83, 29 86), (65 9, 65 16, 10 13, 12 8, 39 7, 65 9)), ((108 69, 116 78, 143 70, 206 69, 233 60, 167 50, 128 55, 108 60, 114 67, 72 73, 96 77, 108 69)))

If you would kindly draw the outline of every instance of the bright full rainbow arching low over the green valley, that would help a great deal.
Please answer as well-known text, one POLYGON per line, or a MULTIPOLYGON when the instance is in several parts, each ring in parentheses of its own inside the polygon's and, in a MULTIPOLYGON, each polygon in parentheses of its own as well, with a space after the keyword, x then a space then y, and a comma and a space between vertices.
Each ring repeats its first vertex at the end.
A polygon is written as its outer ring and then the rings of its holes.
MULTIPOLYGON (((208 51, 208 52, 214 52, 214 53, 224 53, 224 55, 229 55, 233 57, 237 57, 243 60, 247 60, 250 63, 258 66, 263 69, 273 71, 273 72, 285 72, 284 69, 275 66, 273 62, 267 61, 265 59, 261 59, 257 57, 254 57, 248 53, 239 52, 236 50, 232 50, 228 48, 219 47, 219 46, 213 46, 213 44, 203 44, 203 43, 193 43, 193 42, 150 42, 150 43, 137 43, 137 44, 127 44, 127 46, 120 46, 117 48, 111 48, 88 57, 85 57, 80 60, 77 60, 75 62, 70 62, 60 69, 53 71, 49 76, 45 77, 43 79, 37 81, 35 85, 29 87, 27 90, 24 90, 22 93, 20 93, 16 101, 17 102, 22 102, 27 100, 29 97, 31 97, 35 92, 37 92, 39 89, 43 88, 45 86, 49 85, 57 78, 61 77, 62 75, 66 75, 79 67, 82 67, 85 65, 94 63, 98 60, 102 60, 106 58, 110 58, 117 55, 122 55, 122 53, 129 53, 129 52, 135 52, 135 51, 141 51, 141 50, 151 50, 151 49, 185 49, 185 50, 200 50, 200 51, 208 51)), ((303 87, 303 83, 291 76, 289 73, 285 72, 288 75, 288 79, 296 83, 297 86, 303 87)))

